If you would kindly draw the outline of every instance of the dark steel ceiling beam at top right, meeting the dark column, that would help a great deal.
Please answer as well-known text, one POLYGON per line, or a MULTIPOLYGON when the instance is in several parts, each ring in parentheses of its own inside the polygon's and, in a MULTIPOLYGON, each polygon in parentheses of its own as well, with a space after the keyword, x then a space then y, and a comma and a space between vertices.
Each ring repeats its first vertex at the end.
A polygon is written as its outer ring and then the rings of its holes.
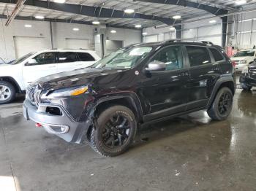
POLYGON ((206 4, 200 4, 197 2, 192 2, 187 0, 136 0, 136 1, 141 1, 146 3, 155 3, 155 4, 172 4, 172 5, 183 6, 183 7, 192 7, 195 9, 205 10, 206 12, 210 12, 213 15, 227 14, 226 9, 213 7, 206 4))

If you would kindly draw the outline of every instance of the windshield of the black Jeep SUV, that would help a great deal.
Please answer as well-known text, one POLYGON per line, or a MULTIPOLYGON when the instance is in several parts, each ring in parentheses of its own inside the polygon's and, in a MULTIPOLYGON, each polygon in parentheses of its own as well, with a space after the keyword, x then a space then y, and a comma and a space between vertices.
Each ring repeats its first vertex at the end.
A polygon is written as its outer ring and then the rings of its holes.
POLYGON ((104 69, 131 69, 138 64, 138 61, 145 58, 152 47, 132 47, 121 49, 94 63, 92 68, 104 69))

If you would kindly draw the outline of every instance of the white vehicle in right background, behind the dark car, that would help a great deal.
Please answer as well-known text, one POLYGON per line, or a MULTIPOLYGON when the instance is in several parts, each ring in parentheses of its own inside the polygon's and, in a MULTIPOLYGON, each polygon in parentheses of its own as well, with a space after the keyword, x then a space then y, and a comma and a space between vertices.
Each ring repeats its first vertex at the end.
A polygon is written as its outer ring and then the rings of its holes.
POLYGON ((249 64, 253 63, 256 58, 256 50, 241 50, 233 55, 230 59, 236 63, 236 71, 243 71, 249 64))

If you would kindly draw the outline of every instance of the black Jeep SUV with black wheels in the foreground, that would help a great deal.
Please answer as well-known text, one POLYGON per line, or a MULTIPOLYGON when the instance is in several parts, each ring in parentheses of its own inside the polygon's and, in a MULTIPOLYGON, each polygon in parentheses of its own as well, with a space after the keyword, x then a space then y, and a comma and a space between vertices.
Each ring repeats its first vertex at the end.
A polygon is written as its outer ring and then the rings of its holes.
POLYGON ((214 44, 157 42, 113 52, 90 69, 54 74, 26 93, 26 120, 62 139, 89 141, 102 155, 124 152, 138 126, 207 109, 230 114, 234 68, 214 44))

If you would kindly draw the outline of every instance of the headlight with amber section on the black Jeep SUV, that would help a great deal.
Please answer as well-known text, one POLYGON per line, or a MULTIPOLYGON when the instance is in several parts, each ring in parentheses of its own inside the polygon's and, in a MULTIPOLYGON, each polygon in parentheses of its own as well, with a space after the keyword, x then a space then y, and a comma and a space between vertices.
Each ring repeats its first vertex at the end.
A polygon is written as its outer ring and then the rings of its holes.
POLYGON ((53 93, 50 93, 50 95, 47 96, 47 98, 60 98, 60 97, 66 97, 66 96, 72 96, 72 95, 80 95, 83 93, 87 93, 88 86, 82 86, 82 87, 70 87, 70 88, 64 88, 61 90, 55 90, 53 93))

